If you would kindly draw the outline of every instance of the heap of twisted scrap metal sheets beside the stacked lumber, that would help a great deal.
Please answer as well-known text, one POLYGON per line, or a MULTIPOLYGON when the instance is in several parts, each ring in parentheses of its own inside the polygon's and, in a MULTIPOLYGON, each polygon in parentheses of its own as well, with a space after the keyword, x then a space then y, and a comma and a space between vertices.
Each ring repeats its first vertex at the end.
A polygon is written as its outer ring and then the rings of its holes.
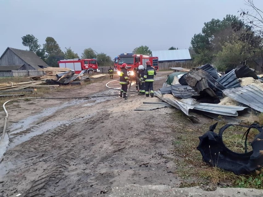
POLYGON ((90 77, 84 76, 85 70, 79 74, 75 74, 74 71, 67 71, 57 74, 57 80, 47 79, 45 80, 50 85, 79 85, 81 80, 90 80, 90 77))

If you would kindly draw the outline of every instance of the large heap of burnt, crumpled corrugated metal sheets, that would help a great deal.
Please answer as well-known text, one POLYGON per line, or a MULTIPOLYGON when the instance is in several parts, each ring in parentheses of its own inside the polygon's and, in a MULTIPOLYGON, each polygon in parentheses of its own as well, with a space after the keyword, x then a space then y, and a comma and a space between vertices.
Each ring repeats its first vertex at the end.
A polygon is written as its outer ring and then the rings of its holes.
POLYGON ((196 117, 202 113, 215 119, 219 115, 229 118, 247 112, 249 108, 263 112, 263 83, 248 66, 239 66, 223 75, 210 64, 188 72, 179 68, 174 70, 179 72, 169 75, 163 88, 154 93, 187 116, 196 117), (241 86, 242 79, 257 83, 241 86), (223 97, 238 101, 238 106, 221 105, 223 97))

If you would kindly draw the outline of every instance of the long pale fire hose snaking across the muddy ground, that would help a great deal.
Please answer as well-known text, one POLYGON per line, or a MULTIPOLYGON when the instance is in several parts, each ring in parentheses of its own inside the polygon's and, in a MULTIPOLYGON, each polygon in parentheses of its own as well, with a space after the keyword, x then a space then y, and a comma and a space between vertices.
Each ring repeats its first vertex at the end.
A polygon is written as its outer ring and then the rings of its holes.
MULTIPOLYGON (((107 88, 111 88, 111 89, 120 90, 120 88, 112 88, 112 87, 108 86, 109 83, 114 82, 114 81, 118 81, 118 80, 113 80, 113 81, 110 81, 110 82, 106 83, 106 87, 107 88)), ((133 91, 131 94, 137 92, 137 90, 130 90, 130 91, 133 91)), ((4 109, 5 113, 6 113, 6 117, 4 118, 4 128, 3 128, 3 132, 2 132, 2 135, 1 135, 1 138, 0 138, 0 144, 2 143, 2 141, 4 139, 4 136, 6 134, 6 125, 7 125, 7 118, 8 118, 8 112, 6 110, 6 104, 8 102, 10 102, 10 101, 15 101, 15 100, 20 100, 20 99, 81 99, 81 98, 93 98, 93 97, 104 97, 104 96, 119 96, 119 94, 108 94, 108 95, 97 95, 97 96, 79 96, 79 97, 23 97, 23 98, 17 98, 17 99, 10 99, 9 101, 6 101, 3 104, 3 109, 4 109)))

